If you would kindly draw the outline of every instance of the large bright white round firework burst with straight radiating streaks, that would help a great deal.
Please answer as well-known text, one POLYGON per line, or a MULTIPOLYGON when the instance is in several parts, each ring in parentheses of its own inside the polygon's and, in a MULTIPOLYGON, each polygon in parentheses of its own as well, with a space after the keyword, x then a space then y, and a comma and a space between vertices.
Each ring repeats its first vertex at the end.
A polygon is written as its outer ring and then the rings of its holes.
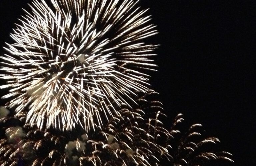
POLYGON ((121 103, 135 103, 148 89, 143 71, 154 70, 148 57, 158 46, 143 42, 157 31, 137 2, 34 0, 0 56, 7 106, 17 115, 28 108, 26 122, 41 129, 88 131, 121 103))

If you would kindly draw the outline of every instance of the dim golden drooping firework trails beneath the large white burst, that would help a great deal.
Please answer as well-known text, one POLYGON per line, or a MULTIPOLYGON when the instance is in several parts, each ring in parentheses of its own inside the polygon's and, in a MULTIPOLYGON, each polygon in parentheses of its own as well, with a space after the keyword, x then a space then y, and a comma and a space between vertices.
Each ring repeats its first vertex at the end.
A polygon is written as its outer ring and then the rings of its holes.
MULTIPOLYGON (((201 125, 194 124, 182 133, 178 126, 183 121, 181 115, 175 118, 171 130, 166 129, 161 122, 166 118, 160 112, 162 104, 154 100, 157 95, 152 90, 139 95, 135 109, 122 104, 119 115, 111 118, 108 125, 89 133, 82 128, 56 132, 42 131, 30 124, 17 127, 17 122, 11 123, 17 118, 2 118, 0 125, 5 134, 0 137, 0 164, 192 166, 232 161, 227 152, 200 149, 219 142, 214 137, 192 139, 200 135, 196 127, 201 125), (16 139, 10 140, 10 135, 16 139)), ((19 123, 24 124, 25 119, 19 123)))

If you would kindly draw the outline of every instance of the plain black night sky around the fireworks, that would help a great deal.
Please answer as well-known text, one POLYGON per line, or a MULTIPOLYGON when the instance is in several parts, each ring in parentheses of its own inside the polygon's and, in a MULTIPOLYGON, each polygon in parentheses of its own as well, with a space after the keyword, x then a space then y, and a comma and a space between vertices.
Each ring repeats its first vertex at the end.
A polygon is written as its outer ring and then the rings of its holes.
MULTIPOLYGON (((0 1, 0 45, 30 0, 0 1)), ((201 123, 233 153, 234 165, 256 165, 255 0, 141 0, 151 8, 159 34, 158 72, 152 88, 161 94, 170 121, 201 123)), ((2 49, 1 49, 2 52, 2 49)))

